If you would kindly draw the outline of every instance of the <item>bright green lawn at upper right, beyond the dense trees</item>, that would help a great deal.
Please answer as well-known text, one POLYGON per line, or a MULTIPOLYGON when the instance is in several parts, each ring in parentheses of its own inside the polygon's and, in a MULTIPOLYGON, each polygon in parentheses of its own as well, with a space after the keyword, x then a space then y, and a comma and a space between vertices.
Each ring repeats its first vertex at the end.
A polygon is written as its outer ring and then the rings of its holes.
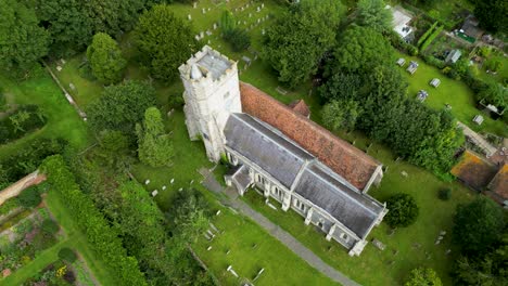
POLYGON ((493 120, 486 114, 477 109, 473 92, 466 83, 446 77, 440 69, 426 64, 421 58, 401 53, 398 55, 406 58, 406 63, 416 61, 419 64, 417 72, 412 76, 405 70, 407 64, 401 67, 401 72, 409 82, 409 98, 416 98, 419 90, 426 90, 429 92, 429 98, 427 98, 424 104, 430 107, 442 109, 445 107, 445 104, 449 104, 452 106, 452 114, 471 129, 508 136, 508 129, 501 120, 493 120), (441 84, 437 88, 429 84, 433 78, 441 80, 441 84), (481 126, 472 122, 472 119, 478 114, 482 114, 485 119, 481 126))

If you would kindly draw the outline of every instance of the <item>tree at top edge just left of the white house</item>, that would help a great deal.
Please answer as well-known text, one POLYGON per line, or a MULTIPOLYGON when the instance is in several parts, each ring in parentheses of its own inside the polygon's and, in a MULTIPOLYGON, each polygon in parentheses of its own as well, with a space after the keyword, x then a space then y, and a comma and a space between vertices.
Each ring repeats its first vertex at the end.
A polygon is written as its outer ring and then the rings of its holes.
POLYGON ((392 29, 392 11, 385 9, 383 0, 359 0, 356 11, 356 23, 379 32, 392 29))

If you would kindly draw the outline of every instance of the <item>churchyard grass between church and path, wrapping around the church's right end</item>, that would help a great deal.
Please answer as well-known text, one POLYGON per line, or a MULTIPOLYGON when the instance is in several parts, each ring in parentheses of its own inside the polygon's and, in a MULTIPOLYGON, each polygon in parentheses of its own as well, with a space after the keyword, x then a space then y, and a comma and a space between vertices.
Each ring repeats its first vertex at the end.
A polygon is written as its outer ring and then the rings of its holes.
MULTIPOLYGON (((355 141, 355 145, 361 150, 366 150, 371 143, 357 133, 342 134, 342 136, 350 142, 355 141)), ((327 242, 325 234, 316 231, 314 226, 306 226, 304 219, 296 212, 292 210, 283 212, 280 208, 277 211, 272 210, 264 204, 263 197, 254 192, 247 193, 244 199, 290 232, 323 261, 363 285, 401 285, 410 270, 420 265, 433 268, 444 285, 450 285, 448 272, 457 253, 450 243, 452 217, 456 205, 469 202, 474 194, 457 182, 442 182, 421 168, 402 160, 395 162, 393 154, 379 144, 372 144, 369 154, 389 167, 381 185, 372 187, 369 194, 384 202, 392 194, 408 193, 415 197, 420 208, 417 222, 407 229, 397 230, 393 236, 388 235, 389 227, 384 223, 374 227, 369 239, 377 238, 384 243, 386 245, 384 251, 369 244, 360 257, 351 258, 338 243, 327 242), (403 177, 402 171, 407 172, 408 177, 403 177), (453 190, 449 202, 437 199, 437 191, 444 187, 453 190), (448 234, 441 245, 435 246, 434 242, 440 231, 446 231, 448 234), (420 244, 421 248, 414 248, 415 243, 420 244), (446 256, 445 251, 448 248, 453 251, 446 256), (398 253, 395 255, 394 251, 398 253), (426 251, 430 253, 430 259, 427 259, 426 251)), ((280 206, 278 203, 274 205, 280 206)))

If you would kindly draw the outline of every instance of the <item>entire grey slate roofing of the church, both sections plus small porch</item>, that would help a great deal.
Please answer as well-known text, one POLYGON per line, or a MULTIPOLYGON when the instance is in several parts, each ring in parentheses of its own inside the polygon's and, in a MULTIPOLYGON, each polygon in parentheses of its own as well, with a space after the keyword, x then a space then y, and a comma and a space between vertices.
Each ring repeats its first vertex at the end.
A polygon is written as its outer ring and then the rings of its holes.
MULTIPOLYGON (((231 114, 224 133, 226 145, 314 205, 327 211, 358 237, 367 236, 384 207, 361 194, 345 179, 326 167, 313 155, 274 127, 247 115, 231 114), (306 165, 306 161, 309 161, 306 165)), ((241 186, 251 182, 244 166, 231 174, 241 186)))

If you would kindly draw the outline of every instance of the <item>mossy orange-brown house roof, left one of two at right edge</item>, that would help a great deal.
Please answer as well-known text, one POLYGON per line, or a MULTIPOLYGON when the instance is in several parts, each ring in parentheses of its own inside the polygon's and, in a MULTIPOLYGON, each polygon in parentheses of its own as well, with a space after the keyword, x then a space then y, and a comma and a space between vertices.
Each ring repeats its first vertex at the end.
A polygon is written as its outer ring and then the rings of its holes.
POLYGON ((472 188, 482 191, 496 173, 496 168, 474 153, 466 151, 452 173, 472 188))

